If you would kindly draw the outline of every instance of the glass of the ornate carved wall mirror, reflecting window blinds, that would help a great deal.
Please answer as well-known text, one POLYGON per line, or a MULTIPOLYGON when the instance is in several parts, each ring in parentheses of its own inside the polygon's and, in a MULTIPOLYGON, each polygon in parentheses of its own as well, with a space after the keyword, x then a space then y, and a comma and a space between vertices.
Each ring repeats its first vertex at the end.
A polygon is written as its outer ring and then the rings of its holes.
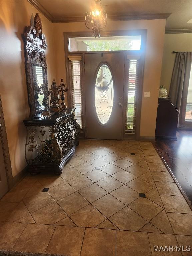
POLYGON ((43 84, 44 84, 44 71, 43 67, 33 65, 33 84, 35 93, 35 109, 41 110, 45 107, 43 106, 43 84))

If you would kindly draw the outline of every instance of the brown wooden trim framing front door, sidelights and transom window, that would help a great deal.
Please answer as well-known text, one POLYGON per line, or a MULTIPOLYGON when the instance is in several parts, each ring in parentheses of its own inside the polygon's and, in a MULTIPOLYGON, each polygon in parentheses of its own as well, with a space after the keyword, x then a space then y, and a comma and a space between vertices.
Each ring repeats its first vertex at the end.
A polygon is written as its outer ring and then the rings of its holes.
MULTIPOLYGON (((71 88, 70 88, 70 67, 68 56, 69 55, 81 55, 82 56, 82 77, 85 77, 84 72, 84 53, 125 53, 130 55, 140 55, 141 60, 141 70, 139 76, 139 86, 140 91, 138 92, 138 102, 137 102, 137 118, 136 118, 136 129, 135 129, 135 138, 130 135, 130 138, 122 138, 129 140, 139 140, 140 138, 140 121, 141 121, 141 107, 142 107, 142 92, 143 92, 143 79, 144 79, 144 66, 145 66, 145 49, 146 49, 146 40, 147 40, 147 29, 138 29, 138 30, 118 30, 118 31, 103 31, 102 37, 106 36, 130 36, 130 35, 141 35, 141 49, 140 50, 125 50, 125 51, 78 51, 78 52, 69 52, 69 38, 70 37, 92 37, 91 31, 78 31, 78 32, 64 32, 64 53, 65 53, 65 67, 66 67, 66 82, 69 85, 69 92, 67 94, 68 105, 72 105, 71 98, 71 88)), ((82 79, 82 97, 85 98, 85 81, 82 79)), ((83 102, 83 101, 82 101, 83 102)), ((82 106, 82 124, 85 125, 85 106, 82 106)), ((82 129, 83 130, 83 129, 82 129)), ((85 137, 85 131, 83 131, 83 137, 85 137)))

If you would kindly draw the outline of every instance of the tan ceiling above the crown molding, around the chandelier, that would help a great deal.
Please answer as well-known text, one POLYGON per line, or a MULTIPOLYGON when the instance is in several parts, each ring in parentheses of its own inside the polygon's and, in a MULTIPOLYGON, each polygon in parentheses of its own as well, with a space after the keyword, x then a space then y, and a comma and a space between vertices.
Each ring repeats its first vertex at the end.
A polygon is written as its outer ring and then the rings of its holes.
MULTIPOLYGON (((90 0, 28 1, 33 4, 36 2, 38 9, 49 16, 53 22, 83 21, 85 12, 91 5, 90 0)), ((191 29, 192 26, 191 0, 102 0, 102 5, 109 19, 113 19, 114 15, 149 14, 153 17, 152 14, 171 13, 167 18, 166 29, 191 29)))

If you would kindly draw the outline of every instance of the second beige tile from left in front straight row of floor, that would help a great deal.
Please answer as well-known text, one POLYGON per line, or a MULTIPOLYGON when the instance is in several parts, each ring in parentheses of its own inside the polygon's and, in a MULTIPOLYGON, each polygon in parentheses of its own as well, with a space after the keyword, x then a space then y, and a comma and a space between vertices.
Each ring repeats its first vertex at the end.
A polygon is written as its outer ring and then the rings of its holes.
POLYGON ((27 224, 13 250, 44 253, 54 229, 53 225, 27 224))

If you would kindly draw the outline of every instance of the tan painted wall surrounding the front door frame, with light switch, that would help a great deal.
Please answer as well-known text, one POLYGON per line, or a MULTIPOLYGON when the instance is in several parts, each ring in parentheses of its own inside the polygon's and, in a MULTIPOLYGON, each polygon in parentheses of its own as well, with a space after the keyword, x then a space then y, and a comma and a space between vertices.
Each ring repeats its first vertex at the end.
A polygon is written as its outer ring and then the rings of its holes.
MULTIPOLYGON (((108 21, 106 31, 147 29, 147 45, 144 71, 144 91, 150 91, 150 98, 142 97, 140 136, 155 136, 158 91, 164 45, 165 20, 108 21)), ((55 23, 55 53, 57 81, 65 74, 65 51, 63 32, 86 31, 85 23, 55 23)))

